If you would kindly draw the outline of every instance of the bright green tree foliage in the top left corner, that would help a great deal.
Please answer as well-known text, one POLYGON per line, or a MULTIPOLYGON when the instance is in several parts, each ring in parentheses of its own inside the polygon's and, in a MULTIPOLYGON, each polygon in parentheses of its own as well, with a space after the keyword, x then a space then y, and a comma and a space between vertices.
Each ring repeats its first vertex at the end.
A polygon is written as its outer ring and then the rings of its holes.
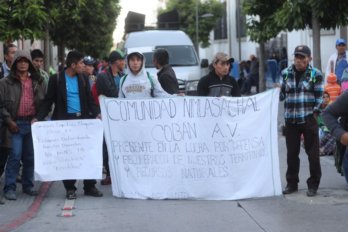
POLYGON ((0 0, 0 40, 42 39, 47 21, 44 0, 0 0))

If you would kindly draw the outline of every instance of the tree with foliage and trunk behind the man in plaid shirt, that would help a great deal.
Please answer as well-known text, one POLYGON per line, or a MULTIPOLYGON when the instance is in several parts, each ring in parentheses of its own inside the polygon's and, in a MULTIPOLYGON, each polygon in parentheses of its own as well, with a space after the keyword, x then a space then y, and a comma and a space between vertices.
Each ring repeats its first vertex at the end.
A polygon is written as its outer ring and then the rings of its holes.
POLYGON ((276 13, 278 25, 287 30, 313 29, 313 62, 321 70, 320 29, 348 25, 348 1, 288 0, 276 13))

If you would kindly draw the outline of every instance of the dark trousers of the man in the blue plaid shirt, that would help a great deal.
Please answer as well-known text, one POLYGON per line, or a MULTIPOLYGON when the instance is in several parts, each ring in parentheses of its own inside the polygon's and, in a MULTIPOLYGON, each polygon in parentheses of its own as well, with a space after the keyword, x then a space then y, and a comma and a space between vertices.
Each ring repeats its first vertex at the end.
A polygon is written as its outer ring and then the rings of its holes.
POLYGON ((304 137, 304 147, 308 155, 310 177, 307 179, 308 189, 317 190, 322 177, 319 159, 318 122, 312 117, 305 123, 285 123, 285 140, 287 149, 287 187, 297 188, 300 171, 301 134, 304 137))

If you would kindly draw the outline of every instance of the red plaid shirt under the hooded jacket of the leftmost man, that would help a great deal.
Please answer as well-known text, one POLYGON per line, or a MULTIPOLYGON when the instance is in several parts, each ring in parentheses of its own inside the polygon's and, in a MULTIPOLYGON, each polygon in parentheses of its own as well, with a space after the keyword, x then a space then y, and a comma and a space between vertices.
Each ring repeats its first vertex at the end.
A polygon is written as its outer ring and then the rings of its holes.
POLYGON ((28 72, 28 78, 24 82, 21 79, 21 76, 17 74, 17 79, 22 83, 22 98, 19 103, 19 109, 17 113, 17 117, 28 117, 36 114, 36 108, 34 104, 34 91, 33 85, 30 77, 30 73, 28 72))

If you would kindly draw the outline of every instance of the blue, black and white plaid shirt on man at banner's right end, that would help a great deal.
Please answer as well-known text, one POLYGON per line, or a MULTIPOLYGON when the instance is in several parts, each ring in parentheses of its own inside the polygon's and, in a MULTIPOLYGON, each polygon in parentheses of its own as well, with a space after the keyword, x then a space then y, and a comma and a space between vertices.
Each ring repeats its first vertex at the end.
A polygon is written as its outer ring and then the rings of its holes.
POLYGON ((279 101, 284 101, 284 118, 288 123, 304 123, 313 113, 320 114, 323 103, 324 81, 322 73, 308 65, 296 87, 294 64, 282 71, 279 101), (313 73, 311 75, 311 73, 313 73), (286 77, 287 76, 287 77, 286 77), (313 78, 312 78, 313 77, 313 78))

